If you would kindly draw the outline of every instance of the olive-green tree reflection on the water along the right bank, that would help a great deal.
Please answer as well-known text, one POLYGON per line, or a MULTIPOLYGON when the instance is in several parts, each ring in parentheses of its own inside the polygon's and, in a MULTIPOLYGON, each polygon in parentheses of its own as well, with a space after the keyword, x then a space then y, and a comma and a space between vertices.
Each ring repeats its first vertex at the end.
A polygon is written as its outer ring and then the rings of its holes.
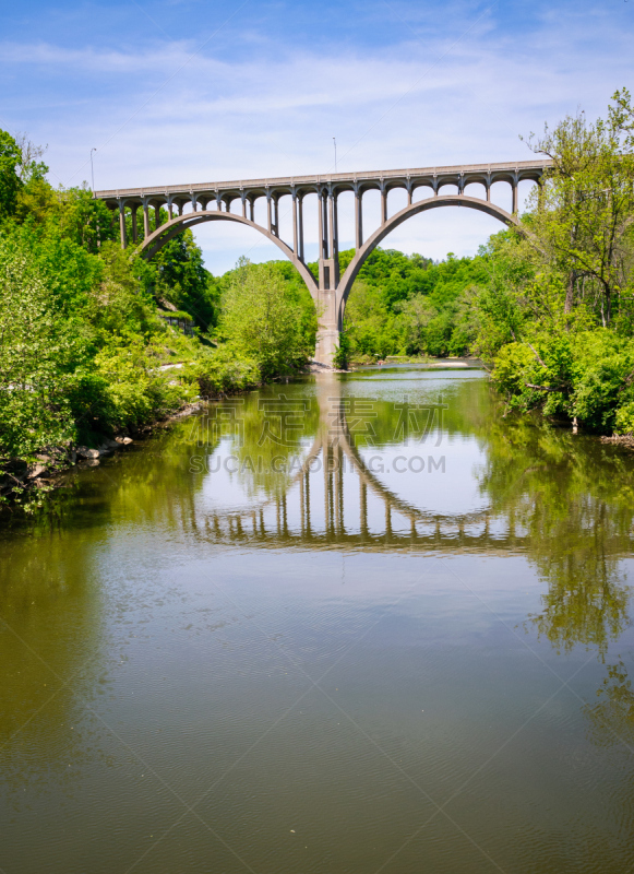
POLYGON ((581 643, 602 657, 629 622, 620 562, 632 550, 632 460, 531 417, 497 420, 480 488, 493 510, 522 525, 548 583, 543 609, 530 617, 539 634, 558 649, 581 643))

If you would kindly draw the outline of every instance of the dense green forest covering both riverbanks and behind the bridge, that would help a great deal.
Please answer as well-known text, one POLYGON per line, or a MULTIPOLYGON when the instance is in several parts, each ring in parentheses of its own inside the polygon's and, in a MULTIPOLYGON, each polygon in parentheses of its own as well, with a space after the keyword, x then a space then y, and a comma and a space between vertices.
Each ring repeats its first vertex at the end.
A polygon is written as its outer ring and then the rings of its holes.
MULTIPOLYGON (((474 258, 450 253, 440 263, 376 249, 350 295, 337 361, 478 355, 507 410, 632 433, 629 92, 614 94, 607 120, 579 113, 528 145, 553 164, 519 226, 474 258)), ((77 446, 296 373, 316 332, 289 263, 242 260, 214 277, 189 231, 147 262, 121 250, 112 214, 87 187, 53 188, 43 157, 26 137, 0 131, 4 496, 25 488, 34 470, 68 463, 77 446)), ((342 270, 352 255, 339 253, 342 270)))

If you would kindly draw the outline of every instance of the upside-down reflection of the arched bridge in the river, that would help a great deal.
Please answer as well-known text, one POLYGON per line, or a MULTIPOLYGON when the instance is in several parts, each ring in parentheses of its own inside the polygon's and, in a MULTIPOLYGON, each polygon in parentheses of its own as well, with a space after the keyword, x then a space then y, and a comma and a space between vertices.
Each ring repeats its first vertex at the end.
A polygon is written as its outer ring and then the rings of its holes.
MULTIPOLYGON (((319 433, 295 479, 259 507, 208 512, 205 527, 214 540, 272 548, 524 548, 526 534, 512 515, 501 516, 489 509, 434 512, 416 507, 384 485, 355 445, 339 394, 340 383, 336 378, 320 381, 319 433), (334 412, 326 413, 328 406, 334 412)), ((429 445, 428 448, 431 449, 429 445)), ((409 475, 442 477, 441 454, 434 454, 433 449, 428 454, 426 449, 428 465, 430 458, 431 472, 409 475)), ((441 491, 438 480, 435 488, 441 491)))

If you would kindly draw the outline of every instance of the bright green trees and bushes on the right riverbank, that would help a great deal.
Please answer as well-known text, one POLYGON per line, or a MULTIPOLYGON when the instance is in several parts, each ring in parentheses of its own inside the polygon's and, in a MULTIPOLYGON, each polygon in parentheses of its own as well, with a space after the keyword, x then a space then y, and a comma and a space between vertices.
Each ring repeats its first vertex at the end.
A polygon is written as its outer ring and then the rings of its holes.
POLYGON ((523 234, 488 247, 476 344, 494 359, 510 406, 634 426, 634 140, 626 91, 608 121, 565 118, 535 144, 547 173, 523 234))

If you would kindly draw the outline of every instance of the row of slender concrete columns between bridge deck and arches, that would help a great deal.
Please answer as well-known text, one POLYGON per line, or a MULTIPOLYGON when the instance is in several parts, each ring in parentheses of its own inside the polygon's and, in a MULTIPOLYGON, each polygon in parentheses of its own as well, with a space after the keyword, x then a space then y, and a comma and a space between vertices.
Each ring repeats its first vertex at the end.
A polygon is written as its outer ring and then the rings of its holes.
MULTIPOLYGON (((491 200, 491 182, 485 180, 486 199, 491 200)), ((447 182, 448 185, 448 182, 447 182)), ((463 178, 457 180, 458 194, 464 193, 465 181, 463 178)), ((381 225, 387 222, 387 193, 388 188, 381 186, 381 225)), ((407 185, 407 205, 412 203, 414 188, 407 185)), ((512 213, 517 212, 517 180, 511 181, 512 190, 512 213)), ((438 197, 440 191, 439 186, 433 186, 434 196, 438 197)), ((268 233, 279 237, 279 194, 266 192, 266 212, 267 212, 267 229, 268 233)), ((304 194, 291 191, 292 197, 292 252, 300 261, 304 261, 304 241, 303 241, 303 197, 304 194)), ((363 192, 359 189, 355 190, 355 247, 360 249, 363 245, 363 215, 362 215, 362 197, 363 192)), ((323 188, 318 191, 318 223, 319 223, 319 258, 320 264, 320 285, 324 288, 336 287, 338 284, 338 210, 337 210, 337 192, 332 188, 323 188), (324 262, 330 262, 325 264, 324 262), (323 274, 323 275, 322 275, 323 274)), ((255 198, 249 197, 247 193, 240 196, 242 202, 242 217, 251 222, 255 221, 255 198), (249 209, 248 209, 249 208, 249 209)), ((198 212, 199 201, 196 196, 191 194, 192 212, 198 212)), ((216 194, 216 209, 223 211, 223 203, 225 211, 230 211, 231 200, 224 199, 219 193, 216 194)), ((182 208, 184 201, 167 201, 168 221, 174 218, 174 208, 178 210, 178 215, 182 215, 182 208)), ((119 205, 119 226, 121 235, 121 246, 125 248, 128 245, 127 228, 125 228, 125 203, 119 205)), ((149 210, 154 209, 155 227, 160 227, 160 204, 151 205, 149 201, 142 204, 143 209, 143 238, 147 238, 151 234, 149 229, 149 210)), ((139 231, 136 223, 136 214, 139 204, 131 205, 130 211, 132 215, 132 241, 139 241, 139 231)))

